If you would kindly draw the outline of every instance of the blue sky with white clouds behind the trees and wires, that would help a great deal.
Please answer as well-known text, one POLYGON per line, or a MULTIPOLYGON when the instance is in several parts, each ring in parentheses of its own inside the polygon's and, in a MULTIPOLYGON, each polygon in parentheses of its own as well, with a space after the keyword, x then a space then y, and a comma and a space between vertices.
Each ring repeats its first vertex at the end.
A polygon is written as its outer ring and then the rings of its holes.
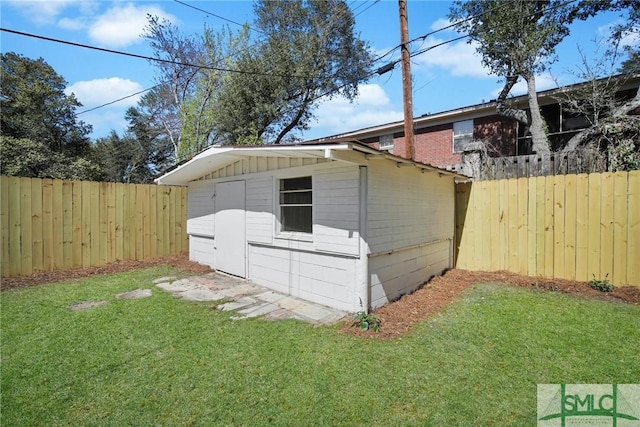
MULTIPOLYGON (((151 55, 151 49, 140 37, 147 14, 164 17, 177 25, 183 34, 200 33, 206 23, 214 30, 239 26, 253 21, 250 1, 190 1, 185 3, 204 9, 203 13, 175 1, 87 1, 87 0, 2 0, 0 22, 3 28, 99 46, 107 49, 151 55), (218 16, 214 16, 218 15, 218 16)), ((348 1, 356 15, 357 31, 377 53, 386 53, 400 42, 398 2, 396 0, 348 1)), ((451 2, 408 1, 409 37, 419 37, 448 24, 446 15, 451 2)), ((581 55, 602 55, 608 29, 619 20, 617 14, 604 14, 586 22, 575 23, 571 35, 558 49, 558 60, 550 72, 538 76, 539 90, 574 83, 581 55), (578 49, 578 46, 580 49, 578 49)), ((411 45, 417 51, 429 45, 456 38, 453 31, 442 31, 424 42, 411 45)), ((637 40, 629 42, 637 43, 637 40)), ((82 112, 155 84, 156 70, 146 60, 98 52, 50 41, 0 33, 3 53, 16 52, 29 58, 42 57, 68 82, 68 91, 82 102, 82 112)), ((388 56, 395 60, 399 50, 388 56)), ((382 63, 379 65, 383 65, 382 63)), ((488 75, 473 46, 464 40, 449 43, 412 59, 413 115, 437 113, 474 105, 496 97, 501 88, 497 76, 488 75)), ((512 94, 524 93, 524 85, 512 94)), ((138 96, 113 105, 83 113, 79 118, 93 126, 92 137, 106 136, 112 129, 122 134, 127 123, 126 109, 135 105, 138 96)), ((402 80, 400 66, 376 76, 360 86, 355 103, 341 98, 322 102, 317 120, 301 135, 304 139, 335 135, 368 126, 401 120, 402 80)))

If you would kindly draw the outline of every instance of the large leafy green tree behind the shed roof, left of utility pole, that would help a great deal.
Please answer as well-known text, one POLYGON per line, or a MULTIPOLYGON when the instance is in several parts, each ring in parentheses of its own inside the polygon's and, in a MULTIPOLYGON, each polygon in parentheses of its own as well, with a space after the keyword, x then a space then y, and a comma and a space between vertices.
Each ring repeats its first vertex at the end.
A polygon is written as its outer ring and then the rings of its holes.
POLYGON ((371 56, 345 1, 259 0, 254 12, 264 41, 226 76, 218 130, 229 143, 278 144, 308 128, 321 96, 354 99, 371 56))

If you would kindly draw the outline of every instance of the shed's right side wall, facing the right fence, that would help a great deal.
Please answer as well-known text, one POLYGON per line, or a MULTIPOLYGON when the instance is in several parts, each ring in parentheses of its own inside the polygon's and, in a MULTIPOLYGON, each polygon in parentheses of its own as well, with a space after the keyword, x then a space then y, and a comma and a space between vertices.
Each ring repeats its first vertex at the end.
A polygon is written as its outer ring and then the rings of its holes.
POLYGON ((371 307, 417 289, 453 266, 454 180, 414 167, 369 167, 371 307))

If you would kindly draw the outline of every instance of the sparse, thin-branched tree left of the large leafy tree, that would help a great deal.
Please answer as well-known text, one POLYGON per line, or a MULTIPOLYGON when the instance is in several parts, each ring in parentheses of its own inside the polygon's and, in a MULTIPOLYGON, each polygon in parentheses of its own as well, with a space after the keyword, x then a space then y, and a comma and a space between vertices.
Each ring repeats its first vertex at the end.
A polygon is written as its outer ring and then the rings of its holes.
MULTIPOLYGON (((204 27, 199 36, 185 36, 167 20, 148 16, 144 37, 156 58, 158 84, 138 105, 169 138, 178 160, 191 157, 215 141, 215 108, 222 75, 218 67, 235 49, 228 30, 214 34, 204 27)), ((242 38, 244 32, 237 36, 242 38)))

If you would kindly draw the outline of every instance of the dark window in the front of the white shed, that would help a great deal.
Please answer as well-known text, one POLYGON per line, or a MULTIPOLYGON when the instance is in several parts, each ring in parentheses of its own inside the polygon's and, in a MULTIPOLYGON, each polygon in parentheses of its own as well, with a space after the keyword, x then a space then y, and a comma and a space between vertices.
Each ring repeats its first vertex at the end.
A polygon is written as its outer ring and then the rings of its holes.
POLYGON ((312 198, 310 176, 280 180, 280 231, 312 232, 312 198))

